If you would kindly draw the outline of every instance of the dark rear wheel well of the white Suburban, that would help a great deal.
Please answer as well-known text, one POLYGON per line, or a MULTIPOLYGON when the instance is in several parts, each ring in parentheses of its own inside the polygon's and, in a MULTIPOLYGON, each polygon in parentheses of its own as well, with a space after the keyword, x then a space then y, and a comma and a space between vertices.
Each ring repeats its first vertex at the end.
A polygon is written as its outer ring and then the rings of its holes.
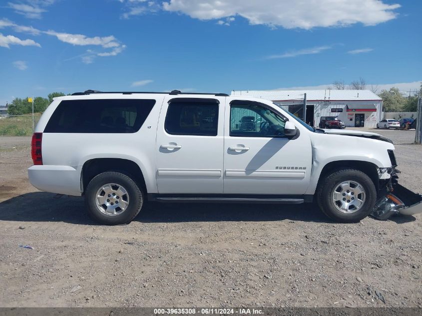
POLYGON ((96 158, 86 161, 82 167, 81 186, 85 192, 86 186, 96 175, 106 171, 118 171, 127 174, 146 193, 145 179, 138 164, 120 158, 96 158))

